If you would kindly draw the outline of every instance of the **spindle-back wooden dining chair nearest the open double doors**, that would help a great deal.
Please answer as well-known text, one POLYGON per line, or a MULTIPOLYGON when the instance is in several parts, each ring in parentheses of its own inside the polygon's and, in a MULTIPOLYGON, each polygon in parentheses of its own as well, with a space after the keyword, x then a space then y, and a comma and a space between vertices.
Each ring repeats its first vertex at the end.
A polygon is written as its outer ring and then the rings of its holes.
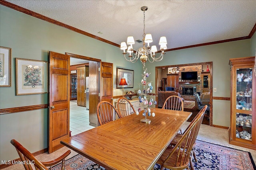
POLYGON ((121 118, 118 110, 110 102, 101 101, 100 103, 98 103, 97 117, 100 125, 103 125, 110 121, 114 121, 116 119, 116 116, 118 116, 118 118, 121 118))

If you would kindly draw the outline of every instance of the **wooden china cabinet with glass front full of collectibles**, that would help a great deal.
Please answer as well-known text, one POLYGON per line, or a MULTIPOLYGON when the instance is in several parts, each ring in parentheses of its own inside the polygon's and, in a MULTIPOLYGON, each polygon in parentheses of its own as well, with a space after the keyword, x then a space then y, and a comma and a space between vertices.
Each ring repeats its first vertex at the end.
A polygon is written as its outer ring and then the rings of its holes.
POLYGON ((231 95, 229 143, 256 150, 255 57, 230 59, 231 95))

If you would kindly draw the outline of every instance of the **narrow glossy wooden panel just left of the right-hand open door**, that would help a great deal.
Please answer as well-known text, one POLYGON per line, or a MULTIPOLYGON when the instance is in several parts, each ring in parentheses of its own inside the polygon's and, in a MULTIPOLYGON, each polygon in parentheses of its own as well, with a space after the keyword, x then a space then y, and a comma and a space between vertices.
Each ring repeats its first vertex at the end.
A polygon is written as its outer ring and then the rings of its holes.
POLYGON ((92 126, 98 126, 97 105, 100 102, 99 68, 99 62, 89 61, 89 122, 92 126))

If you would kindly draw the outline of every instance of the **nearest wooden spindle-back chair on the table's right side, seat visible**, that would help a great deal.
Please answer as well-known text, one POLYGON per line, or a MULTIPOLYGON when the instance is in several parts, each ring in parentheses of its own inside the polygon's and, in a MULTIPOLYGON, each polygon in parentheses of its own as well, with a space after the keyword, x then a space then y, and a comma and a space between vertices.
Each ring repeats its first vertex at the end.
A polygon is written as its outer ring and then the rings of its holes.
POLYGON ((163 168, 183 170, 187 169, 189 164, 193 165, 191 160, 192 149, 196 142, 206 108, 207 106, 200 110, 198 116, 190 123, 176 145, 168 147, 158 159, 156 163, 161 165, 161 170, 163 168))

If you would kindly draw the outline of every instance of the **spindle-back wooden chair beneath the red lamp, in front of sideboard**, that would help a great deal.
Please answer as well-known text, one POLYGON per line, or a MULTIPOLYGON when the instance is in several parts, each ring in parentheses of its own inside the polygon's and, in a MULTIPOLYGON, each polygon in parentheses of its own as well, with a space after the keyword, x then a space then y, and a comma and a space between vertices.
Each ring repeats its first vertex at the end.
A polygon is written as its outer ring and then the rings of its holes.
POLYGON ((119 98, 117 101, 117 109, 121 117, 125 117, 135 113, 135 109, 127 98, 119 98))

